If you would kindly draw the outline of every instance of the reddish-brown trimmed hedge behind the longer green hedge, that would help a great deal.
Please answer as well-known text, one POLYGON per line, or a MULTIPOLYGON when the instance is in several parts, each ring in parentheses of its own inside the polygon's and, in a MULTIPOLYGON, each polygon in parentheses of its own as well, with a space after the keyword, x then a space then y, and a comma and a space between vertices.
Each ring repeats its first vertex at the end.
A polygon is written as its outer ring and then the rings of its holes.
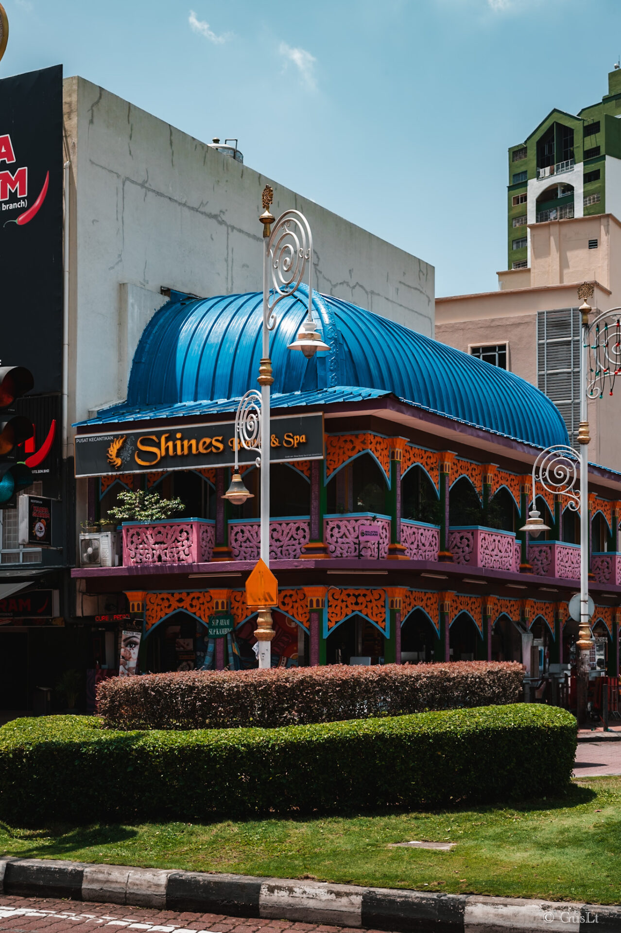
POLYGON ((523 676, 515 661, 458 661, 111 677, 97 709, 115 729, 276 728, 517 703, 523 676))

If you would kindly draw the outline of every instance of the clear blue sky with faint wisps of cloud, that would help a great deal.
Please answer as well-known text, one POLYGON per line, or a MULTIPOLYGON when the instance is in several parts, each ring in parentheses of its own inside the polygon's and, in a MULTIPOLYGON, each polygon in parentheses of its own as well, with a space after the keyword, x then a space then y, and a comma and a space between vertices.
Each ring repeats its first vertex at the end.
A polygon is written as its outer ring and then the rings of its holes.
POLYGON ((619 0, 4 0, 0 75, 62 63, 435 265, 496 288, 506 149, 600 100, 619 0))

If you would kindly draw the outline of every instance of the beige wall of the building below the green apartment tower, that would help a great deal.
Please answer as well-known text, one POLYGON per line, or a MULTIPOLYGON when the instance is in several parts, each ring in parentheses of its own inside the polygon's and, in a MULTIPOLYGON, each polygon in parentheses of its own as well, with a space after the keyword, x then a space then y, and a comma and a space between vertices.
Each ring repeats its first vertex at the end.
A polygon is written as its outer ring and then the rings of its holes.
MULTIPOLYGON (((594 286, 597 313, 621 305, 621 223, 611 214, 531 224, 531 268, 498 272, 499 291, 435 299, 435 339, 469 353, 508 344, 507 365, 537 385, 537 313, 575 308, 594 286), (589 249, 589 240, 597 248, 589 249)), ((621 470, 621 376, 614 396, 588 404, 589 459, 621 470)))

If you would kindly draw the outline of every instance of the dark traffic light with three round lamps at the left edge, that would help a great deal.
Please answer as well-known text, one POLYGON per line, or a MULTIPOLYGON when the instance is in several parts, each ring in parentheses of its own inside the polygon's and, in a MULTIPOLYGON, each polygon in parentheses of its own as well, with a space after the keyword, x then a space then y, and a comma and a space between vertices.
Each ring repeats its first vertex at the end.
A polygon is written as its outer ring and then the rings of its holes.
POLYGON ((14 403, 34 386, 33 374, 22 366, 0 367, 0 508, 15 508, 15 496, 30 486, 33 474, 17 462, 18 445, 33 436, 28 418, 16 414, 14 403))

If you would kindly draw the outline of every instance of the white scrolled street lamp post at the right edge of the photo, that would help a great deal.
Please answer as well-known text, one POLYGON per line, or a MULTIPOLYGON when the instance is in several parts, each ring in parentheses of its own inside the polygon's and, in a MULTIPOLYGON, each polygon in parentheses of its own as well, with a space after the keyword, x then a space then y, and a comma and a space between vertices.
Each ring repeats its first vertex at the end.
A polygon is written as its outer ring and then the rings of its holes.
POLYGON ((586 696, 590 671, 590 651, 593 645, 588 611, 588 411, 589 398, 601 398, 609 387, 613 395, 614 379, 621 373, 621 308, 601 313, 589 324, 591 307, 587 300, 593 295, 593 285, 584 283, 578 288, 578 298, 583 303, 581 313, 580 343, 580 426, 578 429, 579 453, 572 447, 555 445, 539 454, 532 466, 532 509, 526 524, 520 531, 537 536, 547 531, 536 509, 536 480, 548 491, 570 497, 569 508, 580 509, 580 628, 576 648, 577 708, 579 725, 586 720, 586 696), (612 330, 610 324, 613 324, 612 330), (593 354, 592 362, 589 357, 593 354), (580 466, 579 491, 574 490, 576 462, 580 466))

